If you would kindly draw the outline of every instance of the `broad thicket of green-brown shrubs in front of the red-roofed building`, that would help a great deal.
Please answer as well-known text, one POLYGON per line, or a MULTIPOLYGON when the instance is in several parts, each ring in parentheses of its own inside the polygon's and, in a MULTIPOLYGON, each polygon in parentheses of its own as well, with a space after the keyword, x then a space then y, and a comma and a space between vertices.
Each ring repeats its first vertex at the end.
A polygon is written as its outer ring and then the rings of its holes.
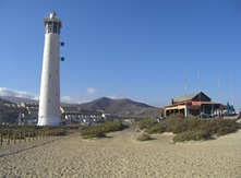
POLYGON ((241 128, 236 120, 198 120, 194 117, 183 118, 180 115, 174 115, 158 123, 154 119, 142 120, 138 127, 140 129, 145 129, 147 134, 164 132, 176 133, 177 135, 173 138, 174 142, 206 140, 214 135, 219 137, 233 133, 241 128))

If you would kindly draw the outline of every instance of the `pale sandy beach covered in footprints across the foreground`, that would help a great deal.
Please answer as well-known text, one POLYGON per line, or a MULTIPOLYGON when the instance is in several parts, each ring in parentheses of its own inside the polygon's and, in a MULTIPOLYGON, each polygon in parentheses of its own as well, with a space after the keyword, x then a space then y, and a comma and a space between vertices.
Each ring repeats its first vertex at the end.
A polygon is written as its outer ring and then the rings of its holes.
POLYGON ((241 130, 173 144, 171 133, 138 142, 135 127, 83 140, 80 133, 3 145, 1 177, 241 177, 241 130))

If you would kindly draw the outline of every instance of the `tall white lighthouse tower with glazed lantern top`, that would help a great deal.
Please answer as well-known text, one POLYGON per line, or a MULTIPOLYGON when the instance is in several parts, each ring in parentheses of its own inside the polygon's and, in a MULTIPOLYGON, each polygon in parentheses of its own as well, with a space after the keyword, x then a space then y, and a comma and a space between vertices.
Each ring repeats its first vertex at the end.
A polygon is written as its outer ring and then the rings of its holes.
MULTIPOLYGON (((37 126, 60 124, 60 28, 62 22, 51 12, 45 24, 45 47, 43 57, 40 96, 37 126)), ((63 59, 63 58, 61 58, 63 59)))

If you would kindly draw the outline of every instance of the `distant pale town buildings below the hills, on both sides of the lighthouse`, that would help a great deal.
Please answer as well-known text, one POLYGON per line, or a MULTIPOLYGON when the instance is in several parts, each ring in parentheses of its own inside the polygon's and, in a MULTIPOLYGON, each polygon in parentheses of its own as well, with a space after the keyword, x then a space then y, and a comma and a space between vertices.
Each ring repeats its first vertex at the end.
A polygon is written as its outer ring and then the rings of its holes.
MULTIPOLYGON (((0 97, 0 124, 2 126, 36 126, 38 121, 38 103, 13 103, 0 97)), ((86 124, 119 120, 117 115, 80 109, 77 106, 61 106, 61 124, 86 124)))

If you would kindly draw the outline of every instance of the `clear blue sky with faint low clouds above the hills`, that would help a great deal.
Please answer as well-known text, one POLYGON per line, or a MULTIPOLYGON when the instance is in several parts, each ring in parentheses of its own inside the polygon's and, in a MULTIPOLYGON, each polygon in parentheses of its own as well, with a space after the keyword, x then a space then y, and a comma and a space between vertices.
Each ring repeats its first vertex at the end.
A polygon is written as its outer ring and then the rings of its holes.
POLYGON ((188 94, 224 104, 233 96, 241 108, 240 0, 0 0, 0 95, 38 97, 52 10, 63 24, 63 102, 106 96, 162 107, 185 94, 185 71, 188 94))

